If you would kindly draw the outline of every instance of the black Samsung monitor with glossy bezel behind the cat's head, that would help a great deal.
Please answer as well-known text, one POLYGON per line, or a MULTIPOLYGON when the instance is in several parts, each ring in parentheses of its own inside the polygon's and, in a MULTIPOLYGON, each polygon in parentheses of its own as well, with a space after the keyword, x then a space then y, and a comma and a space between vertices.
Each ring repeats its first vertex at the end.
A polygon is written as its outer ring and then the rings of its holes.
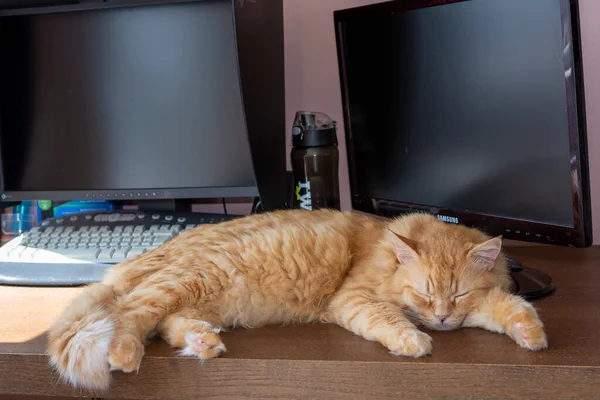
POLYGON ((576 0, 334 13, 353 208, 592 244, 576 0))

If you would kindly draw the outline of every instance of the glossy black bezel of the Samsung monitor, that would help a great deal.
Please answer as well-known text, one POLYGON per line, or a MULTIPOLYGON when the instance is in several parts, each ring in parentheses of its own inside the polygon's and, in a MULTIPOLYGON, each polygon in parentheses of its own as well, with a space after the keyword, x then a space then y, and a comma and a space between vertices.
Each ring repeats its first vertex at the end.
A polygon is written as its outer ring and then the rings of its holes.
MULTIPOLYGON (((540 222, 517 220, 500 216, 466 212, 464 210, 409 204, 390 199, 374 199, 357 193, 357 175, 353 154, 350 107, 344 65, 343 23, 356 18, 379 16, 444 6, 469 0, 406 0, 387 1, 334 12, 334 26, 337 46, 338 68, 343 105, 344 133, 350 175, 352 208, 370 214, 395 217, 410 212, 426 212, 436 215, 449 223, 460 223, 476 227, 490 235, 502 235, 505 239, 536 242, 571 247, 589 247, 593 243, 591 197, 589 184, 588 145, 586 127, 585 92, 583 80, 583 57, 581 52, 581 29, 578 0, 558 0, 561 7, 570 12, 569 26, 563 23, 563 30, 570 29, 573 57, 573 74, 565 85, 574 90, 571 96, 575 104, 569 107, 569 148, 572 176, 573 227, 558 226, 540 222), (575 109, 573 109, 575 108, 575 109)), ((569 93, 567 93, 569 96, 569 93)))

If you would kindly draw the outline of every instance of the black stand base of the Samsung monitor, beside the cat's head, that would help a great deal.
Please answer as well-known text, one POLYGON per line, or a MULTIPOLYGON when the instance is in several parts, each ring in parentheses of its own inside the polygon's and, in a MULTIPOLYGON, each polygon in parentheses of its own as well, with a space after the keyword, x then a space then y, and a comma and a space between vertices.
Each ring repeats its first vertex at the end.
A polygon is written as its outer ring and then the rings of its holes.
POLYGON ((508 258, 510 275, 515 283, 513 292, 525 300, 534 300, 552 294, 555 290, 552 278, 545 272, 529 268, 515 259, 508 258))

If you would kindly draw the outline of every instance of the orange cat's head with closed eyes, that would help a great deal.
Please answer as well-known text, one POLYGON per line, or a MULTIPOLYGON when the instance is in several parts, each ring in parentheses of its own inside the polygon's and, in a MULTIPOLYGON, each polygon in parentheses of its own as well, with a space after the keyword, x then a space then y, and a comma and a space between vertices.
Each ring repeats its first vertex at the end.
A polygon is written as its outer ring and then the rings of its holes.
MULTIPOLYGON (((465 228, 466 229, 466 228, 465 228)), ((466 231, 465 231, 466 232, 466 231)), ((391 232, 407 314, 435 330, 459 328, 491 289, 506 280, 502 239, 456 236, 421 242, 391 232)))

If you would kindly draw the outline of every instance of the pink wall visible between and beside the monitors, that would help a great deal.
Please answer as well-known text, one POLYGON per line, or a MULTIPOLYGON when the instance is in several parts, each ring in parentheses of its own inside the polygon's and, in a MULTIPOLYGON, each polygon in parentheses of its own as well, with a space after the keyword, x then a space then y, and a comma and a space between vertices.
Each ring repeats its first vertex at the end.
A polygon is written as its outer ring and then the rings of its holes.
MULTIPOLYGON (((340 185, 342 208, 350 209, 350 190, 346 147, 343 140, 342 104, 337 69, 337 53, 333 29, 333 11, 384 0, 285 0, 285 68, 286 68, 286 135, 289 137, 294 114, 298 110, 323 111, 338 121, 340 142, 340 185)), ((590 169, 592 180, 592 212, 595 243, 600 244, 600 43, 599 0, 580 0, 582 42, 586 78, 586 98, 590 169)), ((290 151, 288 141, 287 153, 290 151)), ((288 165, 289 168, 289 165, 288 165)))

